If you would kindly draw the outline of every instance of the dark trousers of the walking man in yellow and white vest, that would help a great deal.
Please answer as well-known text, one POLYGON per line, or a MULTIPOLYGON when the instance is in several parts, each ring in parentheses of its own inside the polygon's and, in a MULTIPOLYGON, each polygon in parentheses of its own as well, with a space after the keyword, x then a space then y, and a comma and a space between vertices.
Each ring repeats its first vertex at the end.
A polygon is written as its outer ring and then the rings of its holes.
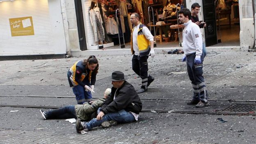
POLYGON ((142 78, 142 86, 148 85, 148 55, 133 55, 132 68, 133 71, 142 78))

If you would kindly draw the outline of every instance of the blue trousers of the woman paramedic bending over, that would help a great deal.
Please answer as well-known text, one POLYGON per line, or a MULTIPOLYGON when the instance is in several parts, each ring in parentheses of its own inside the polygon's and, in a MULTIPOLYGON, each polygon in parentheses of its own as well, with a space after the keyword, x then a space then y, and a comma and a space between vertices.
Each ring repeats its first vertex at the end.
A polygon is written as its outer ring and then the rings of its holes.
POLYGON ((92 101, 91 91, 85 91, 85 88, 81 85, 74 86, 73 92, 78 105, 82 105, 85 101, 92 101))

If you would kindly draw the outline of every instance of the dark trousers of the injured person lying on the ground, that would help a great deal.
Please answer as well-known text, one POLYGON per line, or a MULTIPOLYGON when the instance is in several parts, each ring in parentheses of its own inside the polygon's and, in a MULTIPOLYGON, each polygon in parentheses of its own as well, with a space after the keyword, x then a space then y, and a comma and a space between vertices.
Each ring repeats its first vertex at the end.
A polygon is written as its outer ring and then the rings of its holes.
POLYGON ((76 119, 75 105, 68 105, 46 112, 46 119, 76 119))

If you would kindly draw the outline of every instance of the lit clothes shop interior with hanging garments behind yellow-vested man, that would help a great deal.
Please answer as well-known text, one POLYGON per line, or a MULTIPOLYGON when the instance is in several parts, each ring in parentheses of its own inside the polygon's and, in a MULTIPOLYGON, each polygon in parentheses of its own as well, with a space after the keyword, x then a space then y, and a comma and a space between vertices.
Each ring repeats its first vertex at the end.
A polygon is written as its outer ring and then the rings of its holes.
MULTIPOLYGON (((141 16, 141 22, 151 29, 153 35, 155 33, 156 43, 162 43, 161 47, 179 46, 178 28, 181 29, 181 27, 177 27, 176 10, 183 6, 176 7, 176 4, 182 3, 181 0, 98 0, 95 2, 98 7, 94 9, 97 9, 101 15, 99 19, 102 19, 104 31, 104 36, 98 34, 96 37, 99 45, 113 42, 114 46, 107 49, 130 48, 133 28, 130 15, 137 12, 141 16), (171 25, 173 27, 170 29, 171 25)), ((180 33, 182 34, 181 30, 180 33)))

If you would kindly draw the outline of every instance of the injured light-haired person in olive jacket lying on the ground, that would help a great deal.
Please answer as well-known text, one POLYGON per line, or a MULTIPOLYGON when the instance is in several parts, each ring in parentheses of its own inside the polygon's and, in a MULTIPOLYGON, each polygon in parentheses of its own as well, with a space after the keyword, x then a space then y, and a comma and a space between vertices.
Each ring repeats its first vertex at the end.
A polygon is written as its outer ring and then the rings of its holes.
POLYGON ((97 110, 103 105, 105 99, 111 94, 111 89, 107 88, 103 98, 82 105, 68 105, 48 112, 40 110, 43 119, 81 119, 89 121, 97 116, 97 110))

